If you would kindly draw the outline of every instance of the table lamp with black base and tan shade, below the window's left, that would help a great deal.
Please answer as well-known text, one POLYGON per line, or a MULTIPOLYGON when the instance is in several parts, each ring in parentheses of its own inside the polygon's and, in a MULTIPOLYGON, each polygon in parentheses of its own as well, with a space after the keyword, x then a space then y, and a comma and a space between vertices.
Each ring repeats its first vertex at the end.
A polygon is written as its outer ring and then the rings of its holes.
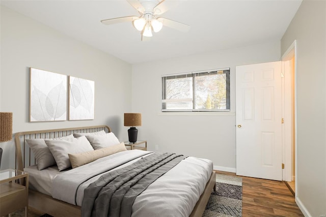
POLYGON ((142 126, 142 114, 140 113, 125 113, 124 125, 130 126, 128 129, 129 142, 137 142, 138 129, 135 126, 142 126))

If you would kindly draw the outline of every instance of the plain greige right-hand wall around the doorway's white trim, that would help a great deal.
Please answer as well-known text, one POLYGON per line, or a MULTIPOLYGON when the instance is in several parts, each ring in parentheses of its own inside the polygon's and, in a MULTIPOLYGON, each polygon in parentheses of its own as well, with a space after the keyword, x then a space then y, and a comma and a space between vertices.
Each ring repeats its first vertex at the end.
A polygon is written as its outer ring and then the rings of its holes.
POLYGON ((304 0, 281 40, 297 40, 296 201, 308 216, 326 214, 326 1, 304 0))

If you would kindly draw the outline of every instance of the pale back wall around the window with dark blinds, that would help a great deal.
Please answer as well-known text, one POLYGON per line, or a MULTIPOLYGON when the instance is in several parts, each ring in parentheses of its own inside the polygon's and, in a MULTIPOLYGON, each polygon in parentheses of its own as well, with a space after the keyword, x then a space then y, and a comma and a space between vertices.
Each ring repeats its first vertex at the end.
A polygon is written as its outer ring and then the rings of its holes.
POLYGON ((139 137, 151 151, 211 159, 235 172, 235 66, 280 60, 280 42, 132 65, 132 111, 142 113, 139 137), (230 113, 161 113, 161 75, 230 67, 230 113), (155 146, 158 149, 155 149, 155 146))

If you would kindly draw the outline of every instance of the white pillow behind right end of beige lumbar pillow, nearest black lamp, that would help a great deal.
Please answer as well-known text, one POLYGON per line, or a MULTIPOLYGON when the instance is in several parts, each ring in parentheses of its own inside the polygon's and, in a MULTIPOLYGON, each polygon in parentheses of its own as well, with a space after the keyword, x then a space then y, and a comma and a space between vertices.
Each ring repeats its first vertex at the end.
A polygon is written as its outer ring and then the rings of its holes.
POLYGON ((86 135, 94 150, 105 148, 108 146, 118 145, 120 142, 113 132, 104 135, 86 135))

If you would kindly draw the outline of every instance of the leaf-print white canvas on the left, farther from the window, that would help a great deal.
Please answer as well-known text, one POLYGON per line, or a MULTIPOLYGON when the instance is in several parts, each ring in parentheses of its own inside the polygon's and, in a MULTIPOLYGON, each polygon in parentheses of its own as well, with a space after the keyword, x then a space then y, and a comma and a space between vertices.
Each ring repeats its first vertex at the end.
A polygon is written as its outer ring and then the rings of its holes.
POLYGON ((30 68, 30 121, 67 120, 67 75, 30 68))

